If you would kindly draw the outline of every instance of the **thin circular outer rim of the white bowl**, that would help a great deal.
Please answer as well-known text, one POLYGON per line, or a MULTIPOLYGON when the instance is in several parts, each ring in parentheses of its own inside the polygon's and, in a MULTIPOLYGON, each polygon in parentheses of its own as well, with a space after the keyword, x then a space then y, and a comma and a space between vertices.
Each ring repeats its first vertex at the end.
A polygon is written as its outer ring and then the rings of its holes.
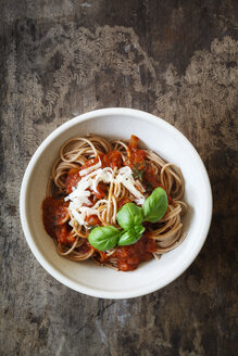
MULTIPOLYGON (((206 236, 209 233, 211 220, 212 220, 212 208, 213 208, 213 201, 212 201, 212 189, 210 185, 210 179, 208 171, 205 169, 205 166, 195 149, 195 147, 190 143, 190 141, 174 126, 165 122, 159 116, 152 115, 150 113, 140 111, 140 110, 135 110, 135 109, 127 109, 127 107, 109 107, 109 109, 100 109, 100 110, 95 110, 90 111, 88 113, 78 115, 66 123, 62 124, 59 126, 57 129, 54 129, 38 147, 34 155, 32 156, 23 180, 22 180, 22 186, 21 186, 21 193, 20 193, 20 217, 21 217, 21 224, 22 228, 26 238, 26 241, 35 255, 36 259, 40 263, 40 265, 52 276, 54 277, 58 281, 63 283, 64 285, 90 295, 95 297, 102 297, 102 298, 130 298, 130 297, 137 297, 141 295, 146 295, 149 293, 152 293, 156 290, 162 289, 163 287, 170 284, 173 282, 175 279, 177 279, 196 259, 198 256, 199 252, 201 251, 206 236), (82 285, 73 280, 68 280, 67 277, 65 277, 63 274, 61 274, 57 268, 54 268, 48 260, 43 257, 43 255, 40 253, 40 251, 37 247, 37 244, 34 242, 34 239, 30 233, 29 225, 27 221, 27 213, 26 213, 26 192, 27 192, 27 186, 30 180, 33 170, 35 165, 37 164, 38 157, 41 155, 41 153, 45 151, 47 145, 53 140, 54 138, 58 137, 59 134, 62 134, 63 131, 67 130, 72 126, 76 125, 79 122, 85 122, 85 120, 90 120, 99 116, 112 116, 112 115, 122 115, 122 116, 130 116, 130 117, 137 117, 142 120, 147 122, 152 122, 156 126, 162 126, 166 130, 171 131, 175 137, 179 138, 179 140, 184 141, 184 144, 187 145, 188 150, 193 153, 193 156, 197 158, 197 164, 199 165, 199 169, 202 173, 202 178, 203 178, 203 186, 205 189, 205 195, 206 195, 206 215, 204 216, 204 224, 203 224, 203 229, 200 233, 200 241, 197 247, 192 251, 192 253, 189 255, 187 258, 186 263, 184 264, 183 268, 179 269, 178 272, 176 272, 174 276, 167 278, 163 282, 156 281, 153 284, 149 287, 142 287, 139 289, 135 289, 131 292, 130 291, 104 291, 104 290, 99 290, 99 289, 93 289, 89 287, 82 285)), ((205 211, 205 209, 204 209, 205 211)))

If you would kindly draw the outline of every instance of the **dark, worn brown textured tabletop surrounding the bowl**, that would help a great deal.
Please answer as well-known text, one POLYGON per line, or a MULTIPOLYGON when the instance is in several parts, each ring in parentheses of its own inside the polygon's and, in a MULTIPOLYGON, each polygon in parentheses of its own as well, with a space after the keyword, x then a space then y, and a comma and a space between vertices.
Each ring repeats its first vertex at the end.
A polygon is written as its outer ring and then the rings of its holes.
POLYGON ((0 355, 235 356, 237 1, 0 1, 0 355), (159 115, 204 161, 214 215, 204 247, 150 295, 97 300, 35 259, 18 214, 39 143, 68 118, 128 106, 159 115))

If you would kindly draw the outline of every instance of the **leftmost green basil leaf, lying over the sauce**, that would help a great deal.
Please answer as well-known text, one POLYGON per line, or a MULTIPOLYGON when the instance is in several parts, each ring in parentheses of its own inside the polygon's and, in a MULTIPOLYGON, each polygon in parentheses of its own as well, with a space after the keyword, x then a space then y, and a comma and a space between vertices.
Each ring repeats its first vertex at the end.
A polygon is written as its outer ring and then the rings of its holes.
POLYGON ((90 245, 99 251, 113 249, 121 237, 121 231, 113 226, 95 228, 88 237, 90 245))

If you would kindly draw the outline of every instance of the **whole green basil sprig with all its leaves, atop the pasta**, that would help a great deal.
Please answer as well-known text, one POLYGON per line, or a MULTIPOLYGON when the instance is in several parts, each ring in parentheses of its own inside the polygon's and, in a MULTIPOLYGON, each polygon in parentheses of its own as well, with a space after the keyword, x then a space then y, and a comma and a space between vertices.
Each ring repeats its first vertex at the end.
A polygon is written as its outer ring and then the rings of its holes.
POLYGON ((166 213, 167 194, 158 187, 145 201, 142 208, 134 203, 127 203, 118 211, 116 219, 123 231, 113 226, 97 227, 89 233, 89 243, 99 251, 136 243, 142 236, 142 221, 158 223, 166 213))

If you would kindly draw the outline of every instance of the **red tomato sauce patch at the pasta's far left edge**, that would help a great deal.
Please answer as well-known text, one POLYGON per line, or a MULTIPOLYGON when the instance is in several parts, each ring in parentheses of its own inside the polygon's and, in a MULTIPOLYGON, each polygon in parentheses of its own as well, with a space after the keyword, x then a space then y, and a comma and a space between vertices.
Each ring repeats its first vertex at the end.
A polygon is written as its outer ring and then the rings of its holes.
POLYGON ((46 198, 42 204, 43 226, 47 233, 59 243, 72 244, 75 238, 71 234, 71 226, 67 224, 70 215, 68 203, 63 199, 46 198))

